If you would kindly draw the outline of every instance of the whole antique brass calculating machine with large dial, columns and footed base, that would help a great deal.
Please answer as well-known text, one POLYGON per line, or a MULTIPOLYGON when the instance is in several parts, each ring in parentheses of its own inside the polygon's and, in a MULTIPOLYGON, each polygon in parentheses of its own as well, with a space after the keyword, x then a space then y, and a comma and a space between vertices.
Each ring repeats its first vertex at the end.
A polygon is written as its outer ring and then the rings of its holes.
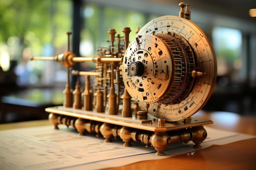
MULTIPOLYGON (((156 155, 164 155, 173 143, 193 141, 201 147, 207 137, 203 125, 213 122, 191 116, 213 91, 216 56, 207 35, 190 21, 188 4, 179 6, 179 17, 148 22, 132 42, 129 27, 122 30, 124 37, 110 29, 111 44, 98 49, 96 57, 76 57, 69 47, 56 57, 31 57, 67 68, 63 106, 45 109, 54 127, 65 124, 80 135, 101 134, 106 142, 120 137, 124 146, 141 142, 153 146, 156 155), (70 88, 70 68, 76 62, 96 63, 93 72, 72 71, 86 77, 84 91, 79 81, 70 88)), ((69 43, 71 33, 67 34, 69 43)))

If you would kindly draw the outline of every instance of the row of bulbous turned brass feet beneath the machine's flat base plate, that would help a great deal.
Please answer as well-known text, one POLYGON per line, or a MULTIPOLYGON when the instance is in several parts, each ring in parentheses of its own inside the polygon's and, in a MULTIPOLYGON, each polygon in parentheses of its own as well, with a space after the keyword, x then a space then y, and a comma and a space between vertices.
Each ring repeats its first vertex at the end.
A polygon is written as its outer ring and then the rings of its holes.
MULTIPOLYGON (((105 142, 111 142, 112 137, 120 137, 124 141, 124 146, 131 146, 131 141, 146 144, 146 147, 153 146, 157 150, 156 155, 165 155, 164 150, 170 144, 180 144, 193 141, 195 148, 201 148, 201 143, 206 139, 207 132, 203 126, 196 126, 181 130, 173 130, 169 132, 150 132, 130 128, 126 126, 117 126, 114 124, 92 121, 82 118, 68 117, 51 113, 49 121, 58 128, 58 124, 73 126, 84 135, 85 132, 100 134, 105 138, 105 142)), ((162 126, 162 125, 159 125, 162 126)))

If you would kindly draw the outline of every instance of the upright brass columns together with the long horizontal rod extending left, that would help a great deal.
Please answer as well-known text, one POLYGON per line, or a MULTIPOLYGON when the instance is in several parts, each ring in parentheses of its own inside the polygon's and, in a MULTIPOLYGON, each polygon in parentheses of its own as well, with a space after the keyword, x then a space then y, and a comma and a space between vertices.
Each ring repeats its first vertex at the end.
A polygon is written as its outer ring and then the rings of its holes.
MULTIPOLYGON (((130 33, 130 28, 125 27, 123 32, 124 32, 124 51, 126 51, 128 44, 129 44, 129 33, 130 33)), ((64 67, 67 68, 67 83, 65 85, 65 90, 63 91, 64 93, 64 102, 63 106, 70 108, 78 108, 81 109, 83 108, 84 110, 93 110, 92 108, 92 100, 93 100, 93 95, 90 92, 90 76, 97 76, 93 72, 89 73, 83 73, 83 72, 78 72, 76 75, 85 75, 86 76, 86 84, 85 84, 85 91, 83 92, 83 98, 81 98, 81 91, 80 91, 80 82, 78 81, 76 83, 76 88, 71 89, 70 88, 70 67, 74 66, 76 62, 96 62, 99 64, 103 64, 103 76, 105 76, 103 86, 104 87, 104 93, 102 96, 102 92, 100 91, 100 88, 98 88, 97 92, 94 94, 96 97, 96 111, 100 113, 105 112, 105 107, 107 105, 107 100, 108 100, 108 114, 110 115, 117 115, 118 110, 119 110, 119 104, 120 104, 120 69, 115 69, 114 65, 116 63, 122 62, 122 55, 120 53, 120 47, 118 45, 118 55, 114 56, 114 41, 115 41, 115 29, 110 29, 108 31, 110 34, 110 42, 111 42, 111 57, 103 57, 103 56, 96 56, 96 57, 76 57, 72 51, 70 51, 70 35, 71 33, 68 32, 68 51, 57 55, 55 57, 30 57, 30 60, 54 60, 56 62, 60 62, 64 67), (110 89, 109 93, 107 95, 107 84, 106 84, 106 78, 107 78, 107 64, 110 64, 110 89), (114 82, 114 71, 116 72, 116 82, 114 82), (115 86, 114 84, 117 84, 117 93, 115 93, 115 86), (103 98, 102 98, 103 97, 103 98), (106 97, 106 98, 105 98, 106 97), (83 105, 80 103, 81 100, 83 100, 83 105), (105 106, 104 106, 105 105, 105 106)), ((117 36, 118 42, 120 42, 120 36, 117 36)), ((121 96, 121 99, 123 99, 123 110, 122 110, 122 116, 123 117, 132 117, 132 109, 131 109, 131 102, 130 102, 130 95, 124 89, 124 94, 121 96)))

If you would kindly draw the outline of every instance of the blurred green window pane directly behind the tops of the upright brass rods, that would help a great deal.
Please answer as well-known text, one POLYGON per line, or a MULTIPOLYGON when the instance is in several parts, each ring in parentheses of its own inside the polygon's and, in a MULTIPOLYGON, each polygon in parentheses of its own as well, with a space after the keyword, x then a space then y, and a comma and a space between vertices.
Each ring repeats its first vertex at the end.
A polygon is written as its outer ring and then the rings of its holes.
POLYGON ((131 38, 135 38, 138 27, 144 26, 145 16, 136 11, 86 4, 83 7, 84 25, 81 31, 81 55, 92 56, 98 47, 109 46, 109 29, 123 36, 124 27, 130 27, 131 38))

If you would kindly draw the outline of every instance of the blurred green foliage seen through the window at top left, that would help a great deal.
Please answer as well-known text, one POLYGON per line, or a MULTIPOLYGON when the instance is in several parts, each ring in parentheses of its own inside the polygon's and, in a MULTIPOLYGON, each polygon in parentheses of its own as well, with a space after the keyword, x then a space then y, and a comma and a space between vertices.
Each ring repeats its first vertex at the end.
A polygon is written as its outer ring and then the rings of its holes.
POLYGON ((70 0, 0 0, 0 42, 19 38, 21 49, 30 47, 40 55, 43 44, 66 44, 70 31, 70 0))

